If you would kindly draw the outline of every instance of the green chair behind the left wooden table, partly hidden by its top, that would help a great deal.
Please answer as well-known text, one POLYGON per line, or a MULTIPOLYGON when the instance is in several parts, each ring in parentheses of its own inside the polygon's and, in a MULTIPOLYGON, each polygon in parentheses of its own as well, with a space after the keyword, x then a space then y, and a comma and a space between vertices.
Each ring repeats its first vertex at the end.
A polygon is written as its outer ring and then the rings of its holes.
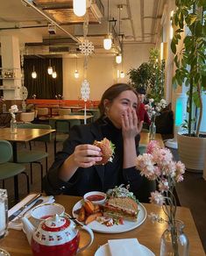
MULTIPOLYGON (((18 128, 27 128, 27 129, 52 129, 49 124, 18 124, 18 128)), ((43 179, 43 165, 41 160, 46 160, 46 172, 48 169, 48 153, 47 153, 47 143, 51 141, 51 133, 41 136, 37 139, 33 139, 32 141, 41 141, 45 144, 45 151, 40 150, 32 150, 32 142, 29 142, 30 150, 21 150, 18 152, 18 163, 29 163, 31 170, 31 183, 32 183, 32 164, 36 163, 40 166, 40 174, 41 174, 41 190, 42 190, 42 179, 43 179)))

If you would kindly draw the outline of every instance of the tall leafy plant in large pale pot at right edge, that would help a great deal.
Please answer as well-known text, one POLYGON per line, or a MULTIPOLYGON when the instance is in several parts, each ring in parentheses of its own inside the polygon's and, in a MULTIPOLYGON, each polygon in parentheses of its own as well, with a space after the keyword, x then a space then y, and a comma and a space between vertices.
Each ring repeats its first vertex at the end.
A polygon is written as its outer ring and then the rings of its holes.
POLYGON ((206 3, 202 0, 178 0, 176 6, 173 25, 177 29, 174 31, 171 43, 176 65, 173 83, 188 87, 188 120, 185 123, 188 126, 188 132, 183 136, 178 134, 178 152, 186 167, 202 170, 206 154, 206 138, 202 139, 204 136, 200 134, 202 92, 206 90, 206 3), (182 47, 177 51, 177 46, 182 39, 182 47), (194 105, 199 110, 199 115, 195 117, 196 128, 192 131, 194 105), (189 149, 191 149, 191 155, 189 155, 189 149))

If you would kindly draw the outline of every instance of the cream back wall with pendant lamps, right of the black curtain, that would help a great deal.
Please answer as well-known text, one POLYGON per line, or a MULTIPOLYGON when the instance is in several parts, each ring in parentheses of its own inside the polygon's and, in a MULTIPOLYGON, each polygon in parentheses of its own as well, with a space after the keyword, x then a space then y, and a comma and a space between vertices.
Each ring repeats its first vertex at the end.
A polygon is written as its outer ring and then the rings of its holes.
MULTIPOLYGON (((90 100, 100 100, 103 91, 115 82, 129 82, 128 76, 124 79, 117 79, 117 69, 124 70, 127 73, 130 68, 138 68, 139 65, 148 61, 149 49, 151 44, 146 45, 127 45, 124 46, 124 62, 118 64, 115 57, 96 57, 95 54, 89 57, 87 80, 90 85, 90 100)), ((77 61, 77 68, 80 77, 75 79, 76 59, 63 59, 63 96, 64 99, 78 99, 81 96, 81 86, 84 78, 82 54, 77 61)))

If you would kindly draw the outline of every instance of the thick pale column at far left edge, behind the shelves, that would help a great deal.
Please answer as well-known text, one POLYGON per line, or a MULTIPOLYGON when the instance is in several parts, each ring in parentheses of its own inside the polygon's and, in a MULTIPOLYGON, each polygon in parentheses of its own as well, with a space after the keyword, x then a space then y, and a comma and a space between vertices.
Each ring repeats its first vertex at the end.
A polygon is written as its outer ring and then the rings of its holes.
POLYGON ((18 38, 14 36, 1 36, 2 68, 14 69, 14 79, 4 79, 4 99, 20 99, 21 67, 18 38))

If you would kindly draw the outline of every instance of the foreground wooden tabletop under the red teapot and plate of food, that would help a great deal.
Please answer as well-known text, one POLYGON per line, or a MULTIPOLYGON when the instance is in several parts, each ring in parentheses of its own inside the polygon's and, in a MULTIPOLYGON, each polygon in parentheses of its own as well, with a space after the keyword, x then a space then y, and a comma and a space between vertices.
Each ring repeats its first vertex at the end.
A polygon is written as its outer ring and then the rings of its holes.
MULTIPOLYGON (((81 199, 81 197, 55 196, 55 199, 56 203, 64 205, 67 213, 71 214, 73 206, 81 199)), ((160 214, 161 217, 164 217, 164 213, 160 207, 150 203, 143 204, 146 207, 147 213, 153 211, 160 214)), ((203 251, 202 243, 196 231, 195 223, 190 210, 188 210, 188 208, 178 207, 177 218, 181 219, 185 224, 184 232, 188 236, 189 240, 189 255, 204 256, 205 253, 203 251)), ((108 239, 138 238, 140 244, 146 245, 155 253, 155 255, 158 256, 160 255, 160 237, 166 228, 167 224, 153 224, 150 219, 146 218, 146 221, 143 224, 132 231, 119 234, 103 234, 95 232, 93 244, 87 250, 79 253, 78 255, 94 255, 98 247, 107 243, 108 239)), ((87 235, 84 232, 81 232, 81 245, 86 243, 87 238, 87 235)), ((0 240, 0 247, 3 247, 8 252, 11 252, 12 256, 32 255, 30 245, 28 244, 23 231, 10 230, 9 235, 0 240)))

